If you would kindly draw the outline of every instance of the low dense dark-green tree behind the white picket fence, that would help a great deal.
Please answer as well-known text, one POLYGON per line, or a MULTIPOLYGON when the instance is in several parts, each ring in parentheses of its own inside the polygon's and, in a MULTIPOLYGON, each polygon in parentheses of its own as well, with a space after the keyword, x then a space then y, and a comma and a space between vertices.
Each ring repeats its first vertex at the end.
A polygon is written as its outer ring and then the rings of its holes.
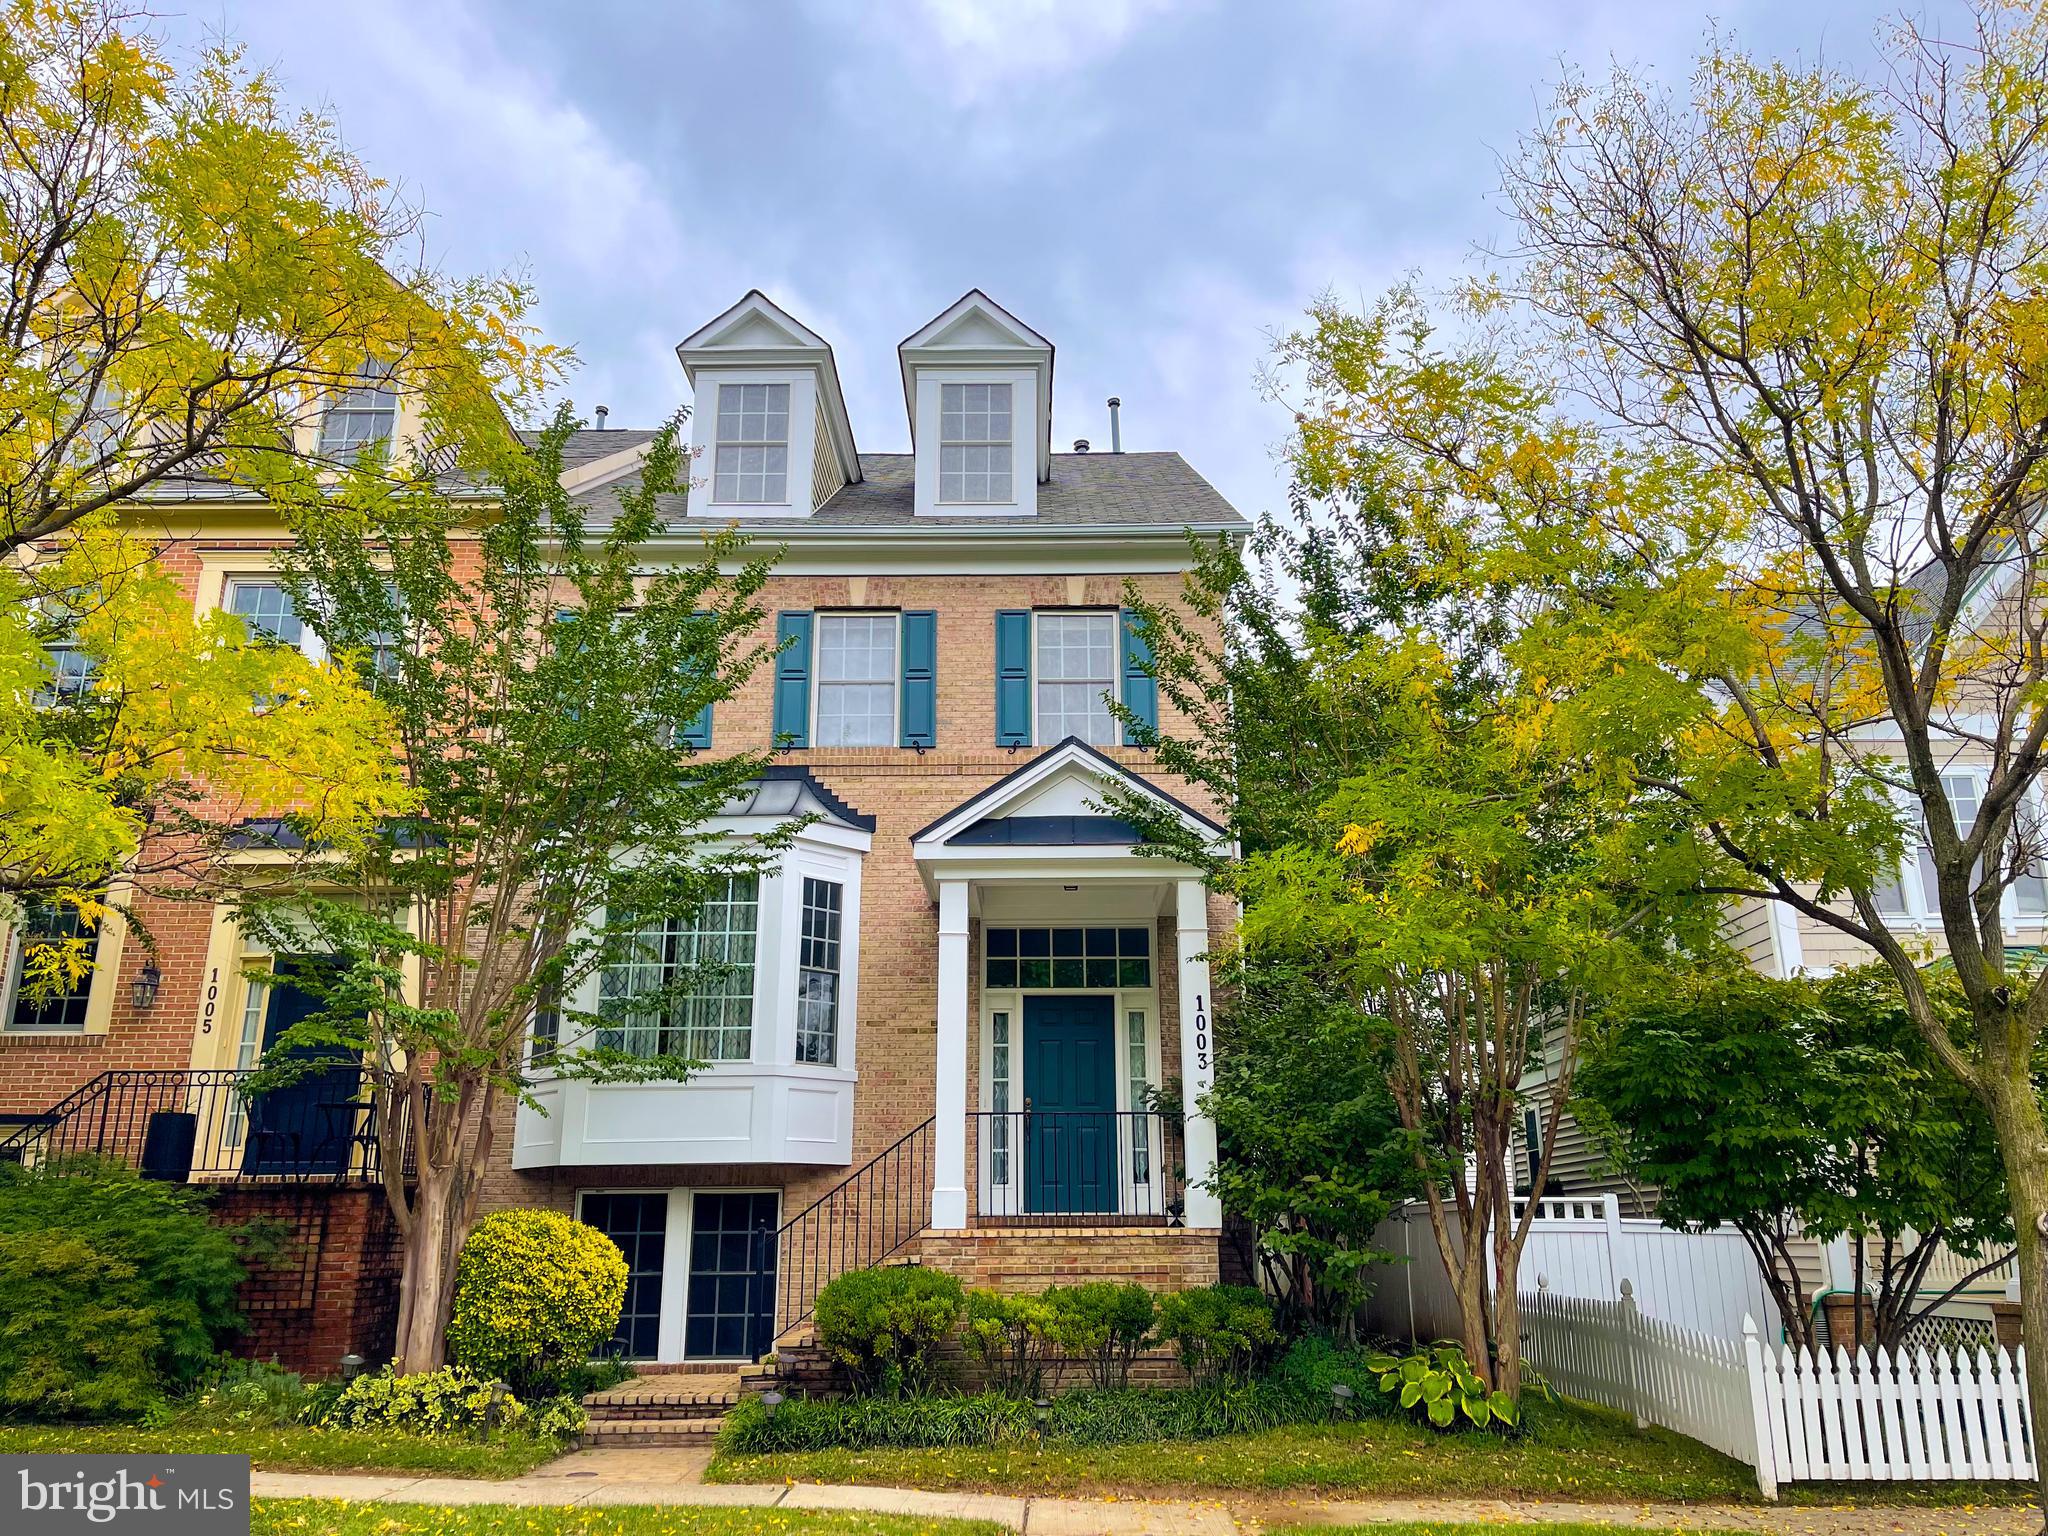
MULTIPOLYGON (((1960 987, 1929 989, 1964 1028, 1960 987)), ((1884 967, 1675 979, 1593 1032, 1579 1094, 1628 1171, 1657 1186, 1667 1227, 1743 1233, 1786 1335, 1808 1348, 1815 1298, 1794 1239, 1851 1239, 1878 1348, 1898 1348, 2011 1243, 1985 1106, 1933 1061, 1884 967), (1925 1296, 1944 1243, 1978 1264, 1925 1296)))

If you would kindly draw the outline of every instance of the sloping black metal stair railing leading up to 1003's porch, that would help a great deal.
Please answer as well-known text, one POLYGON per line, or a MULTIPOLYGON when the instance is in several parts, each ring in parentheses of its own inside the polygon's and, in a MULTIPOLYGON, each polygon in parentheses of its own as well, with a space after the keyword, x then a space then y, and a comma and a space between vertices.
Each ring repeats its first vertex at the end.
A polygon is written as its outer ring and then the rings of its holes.
POLYGON ((776 1333, 848 1270, 881 1264, 932 1221, 932 1120, 846 1176, 776 1233, 776 1333))

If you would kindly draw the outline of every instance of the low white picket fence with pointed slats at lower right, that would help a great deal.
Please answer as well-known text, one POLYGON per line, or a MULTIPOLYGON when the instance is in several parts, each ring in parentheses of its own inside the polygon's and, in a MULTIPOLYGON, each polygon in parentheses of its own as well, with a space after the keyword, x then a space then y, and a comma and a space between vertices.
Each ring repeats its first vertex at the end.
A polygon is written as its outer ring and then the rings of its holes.
POLYGON ((1741 1343, 1618 1300, 1524 1294, 1524 1360, 1556 1391, 1692 1436, 1784 1483, 2036 1477, 2025 1350, 1837 1350, 1741 1343))

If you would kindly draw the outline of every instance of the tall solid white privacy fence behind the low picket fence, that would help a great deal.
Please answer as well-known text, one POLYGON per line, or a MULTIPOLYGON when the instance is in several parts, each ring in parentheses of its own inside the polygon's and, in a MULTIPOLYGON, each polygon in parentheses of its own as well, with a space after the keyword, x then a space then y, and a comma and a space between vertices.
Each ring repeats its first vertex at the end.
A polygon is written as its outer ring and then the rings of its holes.
MULTIPOLYGON (((1403 1257, 1374 1270, 1368 1327, 1411 1339, 1456 1335, 1458 1298, 1444 1274, 1430 1208, 1415 1202, 1397 1210, 1372 1243, 1403 1257)), ((1741 1339, 1743 1317, 1778 1315, 1749 1243, 1733 1227, 1675 1233, 1657 1221, 1622 1217, 1612 1194, 1538 1202, 1511 1282, 1518 1292, 1542 1278, 1552 1296, 1612 1300, 1622 1276, 1634 1284, 1647 1317, 1714 1337, 1741 1339)))

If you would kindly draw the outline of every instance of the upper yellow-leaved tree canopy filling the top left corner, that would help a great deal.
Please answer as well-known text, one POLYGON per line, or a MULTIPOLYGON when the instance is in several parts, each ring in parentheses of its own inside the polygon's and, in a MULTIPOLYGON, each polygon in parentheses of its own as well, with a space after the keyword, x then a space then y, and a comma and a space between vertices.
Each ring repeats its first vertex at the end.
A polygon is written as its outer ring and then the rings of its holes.
POLYGON ((0 555, 172 477, 317 508, 365 369, 420 442, 504 436, 563 356, 522 283, 446 279, 420 213, 233 47, 180 70, 119 0, 0 27, 0 555))

